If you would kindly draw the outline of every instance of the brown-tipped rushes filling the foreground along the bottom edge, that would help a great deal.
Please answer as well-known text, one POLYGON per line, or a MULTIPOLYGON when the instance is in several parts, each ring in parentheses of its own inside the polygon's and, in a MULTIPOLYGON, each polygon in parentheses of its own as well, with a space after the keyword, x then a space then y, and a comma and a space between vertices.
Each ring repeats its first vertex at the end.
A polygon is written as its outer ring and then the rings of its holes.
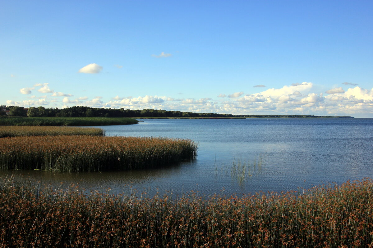
POLYGON ((1 247, 373 247, 373 181, 144 197, 0 183, 1 247))

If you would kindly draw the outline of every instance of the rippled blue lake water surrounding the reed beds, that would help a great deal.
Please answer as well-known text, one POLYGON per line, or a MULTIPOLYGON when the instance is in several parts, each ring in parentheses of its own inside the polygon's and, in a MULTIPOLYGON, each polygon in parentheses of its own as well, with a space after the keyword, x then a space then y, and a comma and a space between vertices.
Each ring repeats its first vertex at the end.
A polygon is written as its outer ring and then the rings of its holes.
POLYGON ((149 195, 254 193, 309 188, 325 182, 373 177, 373 119, 141 119, 137 125, 99 126, 107 135, 163 136, 199 143, 198 158, 178 165, 142 171, 51 173, 1 171, 24 175, 42 183, 87 190, 111 188, 128 193, 132 185, 149 195), (266 159, 261 167, 253 160, 266 159), (246 161, 232 169, 233 161, 246 161), (250 174, 250 175, 249 175, 250 174))

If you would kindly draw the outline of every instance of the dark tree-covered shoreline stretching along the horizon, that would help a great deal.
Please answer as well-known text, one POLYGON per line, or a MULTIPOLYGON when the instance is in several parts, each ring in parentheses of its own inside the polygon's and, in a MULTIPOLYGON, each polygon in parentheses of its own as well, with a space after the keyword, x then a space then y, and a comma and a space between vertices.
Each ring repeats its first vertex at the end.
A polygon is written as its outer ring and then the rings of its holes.
POLYGON ((132 118, 354 118, 352 116, 320 115, 232 115, 218 113, 194 113, 163 109, 111 109, 85 106, 64 109, 40 107, 18 107, 0 105, 0 116, 28 117, 132 117, 132 118))

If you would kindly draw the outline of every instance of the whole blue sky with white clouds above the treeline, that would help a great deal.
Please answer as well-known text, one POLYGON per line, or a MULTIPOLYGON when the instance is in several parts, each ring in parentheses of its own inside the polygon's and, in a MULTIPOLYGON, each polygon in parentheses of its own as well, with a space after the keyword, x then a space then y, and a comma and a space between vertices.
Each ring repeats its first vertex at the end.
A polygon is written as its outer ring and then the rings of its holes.
POLYGON ((2 1, 0 104, 373 117, 373 1, 2 1))

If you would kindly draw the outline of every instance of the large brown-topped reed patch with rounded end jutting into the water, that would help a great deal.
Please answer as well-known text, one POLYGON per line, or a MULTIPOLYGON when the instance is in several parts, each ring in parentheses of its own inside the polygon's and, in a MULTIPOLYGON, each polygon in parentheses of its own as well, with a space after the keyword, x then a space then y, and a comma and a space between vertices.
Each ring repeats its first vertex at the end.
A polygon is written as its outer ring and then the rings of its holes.
POLYGON ((195 158, 196 154, 197 144, 186 139, 88 135, 0 139, 2 170, 135 170, 195 158))

